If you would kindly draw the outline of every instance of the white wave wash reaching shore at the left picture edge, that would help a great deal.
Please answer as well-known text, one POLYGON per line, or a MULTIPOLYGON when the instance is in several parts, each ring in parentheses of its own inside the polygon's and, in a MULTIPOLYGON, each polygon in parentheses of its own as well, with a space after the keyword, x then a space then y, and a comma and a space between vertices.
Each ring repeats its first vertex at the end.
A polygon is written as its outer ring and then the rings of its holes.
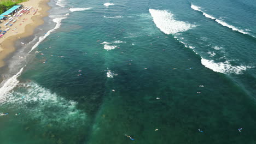
MULTIPOLYGON (((13 90, 14 87, 16 87, 18 85, 18 83, 20 82, 19 80, 17 80, 17 78, 21 75, 22 71, 24 68, 21 68, 20 71, 10 77, 10 79, 8 79, 6 82, 4 82, 3 86, 0 88, 0 103, 5 101, 5 95, 10 92, 11 90, 13 90)), ((2 82, 2 83, 3 83, 2 82)))

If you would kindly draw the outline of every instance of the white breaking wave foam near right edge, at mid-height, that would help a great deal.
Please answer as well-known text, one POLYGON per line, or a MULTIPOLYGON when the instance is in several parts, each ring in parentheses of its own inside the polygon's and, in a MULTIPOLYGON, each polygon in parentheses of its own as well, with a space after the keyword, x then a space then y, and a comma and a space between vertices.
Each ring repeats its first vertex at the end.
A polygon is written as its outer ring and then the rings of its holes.
POLYGON ((205 65, 206 68, 212 69, 213 71, 216 71, 218 73, 223 74, 242 74, 243 71, 245 71, 247 68, 252 68, 248 66, 232 66, 229 61, 225 61, 224 63, 214 63, 213 60, 208 60, 205 58, 201 58, 201 63, 205 65))

